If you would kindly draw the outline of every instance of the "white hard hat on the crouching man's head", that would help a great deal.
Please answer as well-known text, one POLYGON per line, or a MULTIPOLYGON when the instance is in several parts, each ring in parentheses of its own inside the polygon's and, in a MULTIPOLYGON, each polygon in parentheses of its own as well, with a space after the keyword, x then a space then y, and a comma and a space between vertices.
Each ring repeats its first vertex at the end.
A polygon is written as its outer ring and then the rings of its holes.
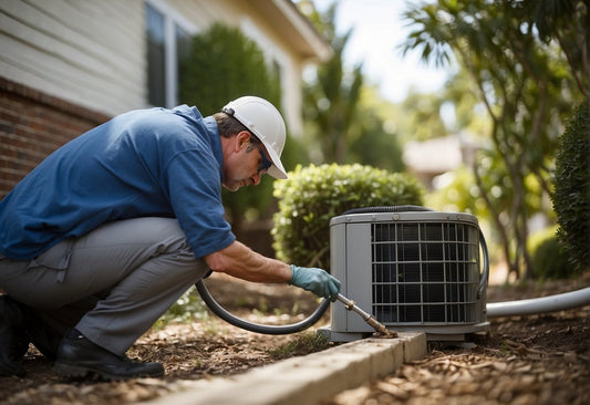
POLYGON ((287 178, 281 163, 287 135, 279 111, 265 98, 252 95, 236 98, 221 111, 238 120, 262 142, 272 160, 268 174, 275 178, 287 178))

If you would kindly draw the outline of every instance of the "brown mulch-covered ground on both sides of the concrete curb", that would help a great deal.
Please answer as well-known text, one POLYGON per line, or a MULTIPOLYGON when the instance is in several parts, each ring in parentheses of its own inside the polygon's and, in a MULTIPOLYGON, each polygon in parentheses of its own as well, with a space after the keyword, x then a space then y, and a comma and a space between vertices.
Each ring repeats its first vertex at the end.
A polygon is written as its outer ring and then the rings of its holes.
MULTIPOLYGON (((317 301, 286 285, 211 278, 207 284, 226 308, 259 323, 292 323, 317 301), (297 313, 298 315, 292 315, 297 313)), ((545 297, 590 285, 576 280, 489 287, 487 302, 545 297)), ((344 404, 588 404, 590 403, 590 307, 544 315, 490 320, 487 335, 465 347, 432 345, 429 354, 394 375, 339 394, 344 404)), ((328 314, 319 324, 329 322, 328 314)), ((124 404, 182 390, 187 381, 249 368, 330 346, 314 330, 271 336, 246 332, 215 315, 148 331, 127 353, 164 364, 162 378, 127 382, 71 381, 33 347, 23 360, 25 378, 0 378, 0 404, 124 404), (313 343, 310 343, 313 342, 313 343)))

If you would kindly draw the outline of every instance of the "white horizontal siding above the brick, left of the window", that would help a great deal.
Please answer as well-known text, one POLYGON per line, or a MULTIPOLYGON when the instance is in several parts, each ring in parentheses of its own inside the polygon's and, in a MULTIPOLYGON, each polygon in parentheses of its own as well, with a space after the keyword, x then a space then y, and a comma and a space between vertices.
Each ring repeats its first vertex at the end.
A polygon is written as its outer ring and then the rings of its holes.
POLYGON ((143 4, 1 0, 2 76, 110 115, 145 106, 143 4))

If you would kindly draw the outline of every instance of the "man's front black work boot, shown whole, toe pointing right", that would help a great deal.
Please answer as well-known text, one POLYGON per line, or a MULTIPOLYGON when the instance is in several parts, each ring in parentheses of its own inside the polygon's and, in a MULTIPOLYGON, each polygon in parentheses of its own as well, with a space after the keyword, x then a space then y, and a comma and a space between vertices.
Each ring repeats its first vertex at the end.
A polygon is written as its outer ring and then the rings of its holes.
POLYGON ((104 380, 164 375, 162 364, 139 363, 126 356, 117 356, 91 342, 76 329, 68 332, 62 340, 53 371, 63 377, 85 377, 89 373, 94 373, 104 380))

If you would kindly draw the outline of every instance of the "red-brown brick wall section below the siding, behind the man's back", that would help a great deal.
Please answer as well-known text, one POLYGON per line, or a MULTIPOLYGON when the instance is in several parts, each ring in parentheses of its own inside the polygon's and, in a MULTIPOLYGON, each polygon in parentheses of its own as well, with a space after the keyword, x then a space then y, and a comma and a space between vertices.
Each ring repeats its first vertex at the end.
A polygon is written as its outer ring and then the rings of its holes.
POLYGON ((0 199, 53 150, 107 120, 0 77, 0 199))

